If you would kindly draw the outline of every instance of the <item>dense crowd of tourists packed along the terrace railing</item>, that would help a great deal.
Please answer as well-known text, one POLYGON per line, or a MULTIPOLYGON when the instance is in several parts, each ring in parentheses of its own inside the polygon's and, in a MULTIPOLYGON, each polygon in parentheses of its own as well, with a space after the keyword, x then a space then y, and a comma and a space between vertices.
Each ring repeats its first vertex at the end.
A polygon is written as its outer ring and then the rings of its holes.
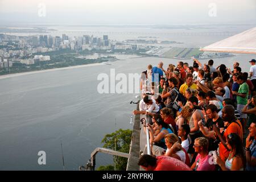
MULTIPOLYGON (((249 74, 214 61, 148 65, 141 76, 139 110, 148 129, 146 170, 256 170, 256 60, 249 74), (146 119, 144 119, 146 118, 146 119)), ((146 147, 145 147, 146 148, 146 147)))

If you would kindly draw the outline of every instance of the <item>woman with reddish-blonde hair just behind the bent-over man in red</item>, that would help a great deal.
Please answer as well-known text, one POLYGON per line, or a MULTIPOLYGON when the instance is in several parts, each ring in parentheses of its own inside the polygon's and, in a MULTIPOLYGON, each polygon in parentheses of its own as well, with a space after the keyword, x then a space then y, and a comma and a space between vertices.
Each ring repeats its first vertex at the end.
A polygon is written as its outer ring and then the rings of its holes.
POLYGON ((185 149, 181 146, 177 135, 173 133, 167 134, 164 137, 164 140, 167 146, 167 150, 164 155, 179 159, 189 166, 190 165, 189 156, 185 151, 185 149))

